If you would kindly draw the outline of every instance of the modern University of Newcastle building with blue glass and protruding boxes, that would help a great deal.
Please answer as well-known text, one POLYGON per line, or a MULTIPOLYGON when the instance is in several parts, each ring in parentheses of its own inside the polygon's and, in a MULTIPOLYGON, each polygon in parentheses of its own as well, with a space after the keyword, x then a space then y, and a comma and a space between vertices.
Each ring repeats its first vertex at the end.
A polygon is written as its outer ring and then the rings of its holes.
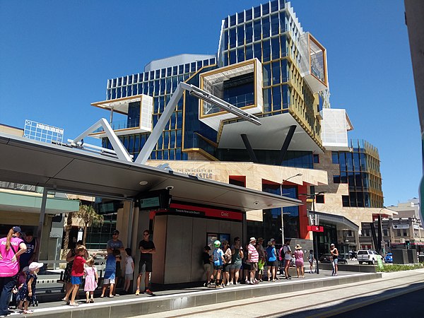
MULTIPOLYGON (((184 93, 148 165, 167 163, 175 172, 305 203, 250 211, 251 236, 281 244, 284 235, 312 247, 308 215, 316 212, 325 229, 321 252, 331 242, 359 247, 361 223, 383 208, 378 151, 367 142, 348 143, 353 125, 346 110, 330 107, 326 49, 303 30, 290 2, 225 17, 216 55, 152 61, 141 73, 108 80, 106 99, 92 105, 110 112, 115 133, 136 158, 182 81, 254 114, 261 126, 184 93)), ((112 148, 102 129, 91 136, 112 148)))

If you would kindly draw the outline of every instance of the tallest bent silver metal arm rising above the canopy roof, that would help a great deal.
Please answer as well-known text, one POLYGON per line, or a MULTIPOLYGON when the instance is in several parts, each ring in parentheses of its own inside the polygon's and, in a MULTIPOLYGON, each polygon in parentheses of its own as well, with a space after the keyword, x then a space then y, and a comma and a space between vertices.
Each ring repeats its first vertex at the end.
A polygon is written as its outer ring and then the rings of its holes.
POLYGON ((160 115, 160 118, 158 122, 156 123, 155 128, 153 128, 153 131, 151 132, 146 143, 141 149, 135 163, 141 163, 141 164, 146 163, 146 161, 148 160, 148 157, 151 155, 151 152, 153 151, 153 148, 155 147, 155 144, 158 142, 160 135, 162 135, 163 129, 165 129, 167 122, 170 120, 170 117, 172 113, 174 112, 175 107, 177 107, 177 103, 179 99, 182 97, 182 93, 184 93, 184 90, 189 91, 190 95, 193 95, 196 98, 204 100, 205 102, 210 102, 211 104, 220 107, 220 109, 222 110, 235 114, 237 117, 245 119, 248 122, 252 122, 253 124, 256 124, 258 126, 261 125, 261 122, 259 122, 258 117, 252 114, 249 114, 245 112, 244 110, 240 110, 240 108, 237 108, 231 105, 230 103, 225 102, 225 100, 221 100, 220 98, 217 98, 216 96, 213 96, 210 93, 206 92, 205 90, 201 90, 200 88, 197 88, 196 86, 179 82, 177 89, 172 94, 170 101, 165 106, 165 110, 160 115))

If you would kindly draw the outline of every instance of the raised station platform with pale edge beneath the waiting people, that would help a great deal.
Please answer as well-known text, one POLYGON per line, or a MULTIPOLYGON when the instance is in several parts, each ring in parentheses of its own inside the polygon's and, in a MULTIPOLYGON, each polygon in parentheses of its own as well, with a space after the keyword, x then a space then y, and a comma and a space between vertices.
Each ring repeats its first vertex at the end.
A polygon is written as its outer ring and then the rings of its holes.
MULTIPOLYGON (((264 295, 276 295, 302 290, 310 291, 314 288, 359 283, 381 277, 381 273, 355 273, 348 271, 339 271, 338 276, 331 276, 331 271, 321 270, 319 274, 305 273, 305 278, 293 277, 290 280, 285 280, 279 276, 280 279, 276 282, 264 281, 257 285, 230 285, 222 289, 203 286, 173 287, 167 290, 153 290, 153 295, 141 294, 136 296, 131 294, 114 298, 96 297, 95 302, 91 304, 86 304, 83 293, 80 293, 78 307, 68 306, 61 300, 52 300, 40 302, 38 307, 30 307, 29 309, 33 310, 31 314, 25 315, 20 310, 15 310, 8 317, 134 317, 142 314, 212 305, 229 300, 245 300, 264 295)), ((57 294, 56 297, 60 299, 63 295, 57 294)))

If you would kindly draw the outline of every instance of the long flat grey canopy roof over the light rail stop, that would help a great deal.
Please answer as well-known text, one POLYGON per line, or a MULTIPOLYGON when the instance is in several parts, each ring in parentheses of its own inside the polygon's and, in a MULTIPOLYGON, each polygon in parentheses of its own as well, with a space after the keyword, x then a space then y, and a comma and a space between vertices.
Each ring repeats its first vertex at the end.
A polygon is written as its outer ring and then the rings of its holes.
POLYGON ((173 187, 173 200, 238 211, 302 205, 297 199, 7 134, 0 134, 0 153, 1 181, 59 192, 128 199, 173 187))

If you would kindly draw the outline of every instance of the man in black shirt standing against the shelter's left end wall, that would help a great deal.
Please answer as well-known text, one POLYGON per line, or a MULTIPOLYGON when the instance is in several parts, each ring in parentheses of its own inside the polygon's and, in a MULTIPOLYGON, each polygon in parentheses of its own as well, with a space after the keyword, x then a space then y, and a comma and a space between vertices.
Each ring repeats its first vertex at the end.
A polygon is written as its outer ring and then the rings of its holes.
POLYGON ((140 295, 140 282, 141 276, 145 273, 144 276, 144 291, 146 294, 153 294, 153 292, 148 289, 148 278, 152 272, 152 254, 156 252, 155 244, 148 239, 150 232, 148 230, 143 231, 143 240, 139 243, 139 249, 141 252, 140 255, 140 264, 139 264, 139 276, 137 277, 137 290, 136 295, 140 295))

